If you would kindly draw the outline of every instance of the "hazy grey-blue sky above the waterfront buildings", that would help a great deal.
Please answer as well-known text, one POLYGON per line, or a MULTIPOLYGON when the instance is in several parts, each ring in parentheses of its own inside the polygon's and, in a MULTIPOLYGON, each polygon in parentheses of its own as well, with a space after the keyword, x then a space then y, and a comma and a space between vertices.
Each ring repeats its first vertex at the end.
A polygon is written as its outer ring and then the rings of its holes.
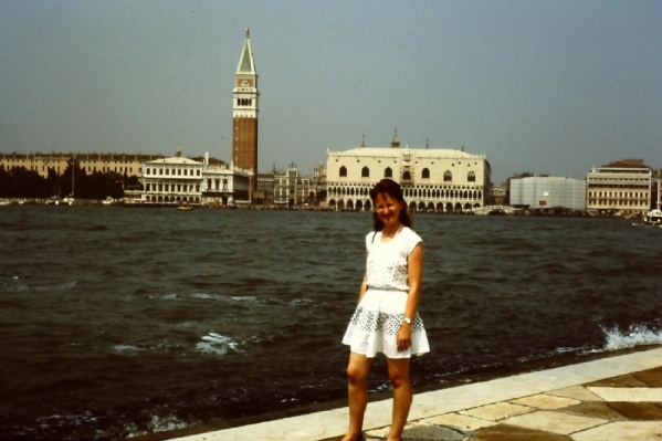
POLYGON ((485 153, 493 181, 662 168, 662 2, 0 0, 0 151, 230 160, 244 41, 260 171, 361 144, 485 153))

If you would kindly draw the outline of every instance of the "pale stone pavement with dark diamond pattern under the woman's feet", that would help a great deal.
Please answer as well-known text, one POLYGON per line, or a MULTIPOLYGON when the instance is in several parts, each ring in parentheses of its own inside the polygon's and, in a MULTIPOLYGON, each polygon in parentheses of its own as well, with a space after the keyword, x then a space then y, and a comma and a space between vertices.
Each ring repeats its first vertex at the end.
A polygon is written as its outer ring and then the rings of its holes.
MULTIPOLYGON (((366 441, 388 433, 371 402, 366 441)), ((662 441, 662 348, 414 395, 403 441, 662 441)), ((347 408, 180 438, 337 441, 347 408)))

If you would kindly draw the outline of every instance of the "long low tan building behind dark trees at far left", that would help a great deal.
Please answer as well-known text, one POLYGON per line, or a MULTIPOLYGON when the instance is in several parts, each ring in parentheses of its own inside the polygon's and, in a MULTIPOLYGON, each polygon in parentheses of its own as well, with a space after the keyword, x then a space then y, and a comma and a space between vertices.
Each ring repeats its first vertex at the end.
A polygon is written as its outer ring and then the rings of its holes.
POLYGON ((143 164, 164 158, 164 155, 114 154, 114 153, 34 153, 34 154, 0 154, 0 167, 6 170, 24 167, 36 171, 42 178, 49 177, 49 169, 62 175, 66 170, 72 156, 76 158, 81 169, 87 175, 95 171, 114 171, 126 176, 143 176, 143 164))

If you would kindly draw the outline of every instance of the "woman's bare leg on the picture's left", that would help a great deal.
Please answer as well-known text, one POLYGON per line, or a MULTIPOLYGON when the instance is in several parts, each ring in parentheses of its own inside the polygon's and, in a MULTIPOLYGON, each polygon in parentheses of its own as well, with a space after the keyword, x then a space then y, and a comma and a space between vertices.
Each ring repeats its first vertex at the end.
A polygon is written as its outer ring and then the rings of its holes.
POLYGON ((364 430, 364 414, 368 406, 368 374, 372 358, 349 353, 347 366, 347 398, 349 402, 349 430, 343 441, 354 441, 364 430))

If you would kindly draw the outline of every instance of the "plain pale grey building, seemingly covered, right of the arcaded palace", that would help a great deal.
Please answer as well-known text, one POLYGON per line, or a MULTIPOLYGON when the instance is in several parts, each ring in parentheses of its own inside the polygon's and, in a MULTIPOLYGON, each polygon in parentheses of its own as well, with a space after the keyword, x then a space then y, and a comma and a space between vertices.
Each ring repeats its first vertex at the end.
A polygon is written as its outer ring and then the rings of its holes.
POLYGON ((544 212, 586 210, 586 181, 554 176, 511 179, 511 206, 544 212))

